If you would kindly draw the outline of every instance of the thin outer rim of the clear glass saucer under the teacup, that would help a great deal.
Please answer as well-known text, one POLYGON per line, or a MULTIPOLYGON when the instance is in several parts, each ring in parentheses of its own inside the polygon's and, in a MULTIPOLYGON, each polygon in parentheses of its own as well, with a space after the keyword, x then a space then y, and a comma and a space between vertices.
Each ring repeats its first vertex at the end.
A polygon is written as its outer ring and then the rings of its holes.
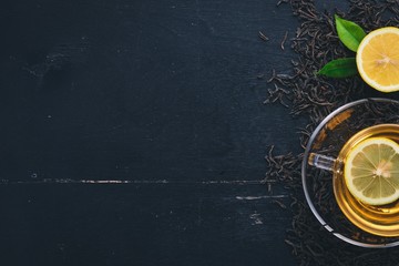
POLYGON ((315 217, 318 219, 318 222, 321 224, 323 227, 325 227, 329 233, 331 233, 334 236, 338 237, 339 239, 352 244, 355 246, 359 246, 359 247, 369 247, 369 248, 386 248, 386 247, 395 247, 395 246, 399 246, 399 241, 397 242, 392 242, 392 243, 388 243, 388 244, 369 244, 369 243, 364 243, 364 242, 359 242, 359 241, 355 241, 351 239, 347 236, 341 235, 338 232, 335 232, 335 229, 328 225, 326 223, 326 221, 321 217, 321 215, 317 212, 315 205, 311 202, 310 198, 310 194, 308 192, 307 188, 307 178, 306 178, 306 168, 308 166, 308 157, 310 154, 310 147, 313 145, 313 143, 316 140, 316 136, 318 135, 318 133, 320 132, 320 130, 332 119, 335 117, 338 113, 356 106, 358 104, 362 104, 369 101, 377 101, 377 102, 389 102, 389 103, 397 103, 399 104, 399 101, 392 100, 392 99, 386 99, 386 98, 367 98, 367 99, 361 99, 361 100, 357 100, 357 101, 352 101, 349 103, 346 103, 341 106, 339 106, 338 109, 336 109, 335 111, 332 111, 331 113, 329 113, 318 125, 317 127, 314 130, 314 132, 311 133, 309 141, 306 145, 305 152, 304 152, 304 158, 303 158, 303 163, 301 163, 301 182, 303 182, 303 190, 305 193, 305 198, 306 202, 308 204, 308 206, 310 207, 310 211, 313 212, 313 214, 315 215, 315 217))

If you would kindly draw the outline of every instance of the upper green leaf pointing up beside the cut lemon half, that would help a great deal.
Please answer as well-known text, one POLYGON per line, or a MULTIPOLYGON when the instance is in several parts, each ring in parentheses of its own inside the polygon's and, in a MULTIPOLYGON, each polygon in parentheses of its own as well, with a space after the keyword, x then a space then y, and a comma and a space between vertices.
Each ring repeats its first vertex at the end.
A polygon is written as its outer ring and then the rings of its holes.
POLYGON ((361 40, 365 38, 366 32, 360 28, 360 25, 339 18, 335 16, 336 28, 338 32, 339 40, 349 48, 351 51, 356 52, 361 40))

